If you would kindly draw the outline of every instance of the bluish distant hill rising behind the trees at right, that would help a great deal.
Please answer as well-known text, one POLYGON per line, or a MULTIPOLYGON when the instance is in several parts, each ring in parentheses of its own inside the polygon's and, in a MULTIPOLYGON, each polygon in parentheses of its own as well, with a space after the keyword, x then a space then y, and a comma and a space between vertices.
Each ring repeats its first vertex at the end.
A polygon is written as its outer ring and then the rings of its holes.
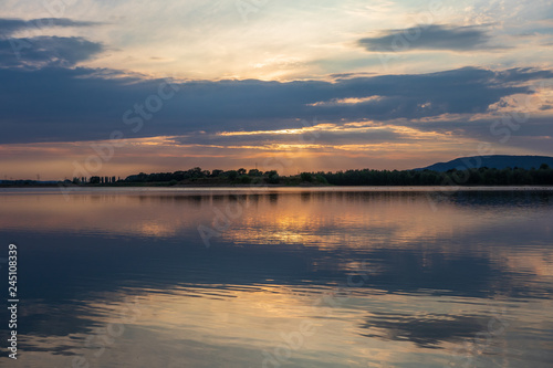
POLYGON ((494 156, 472 156, 472 157, 461 157, 448 162, 437 162, 428 167, 419 168, 416 170, 434 170, 439 172, 445 172, 451 169, 466 170, 466 169, 478 169, 482 167, 504 169, 504 168, 523 168, 530 170, 531 168, 540 168, 542 164, 546 164, 553 167, 553 157, 547 156, 507 156, 507 155, 494 155, 494 156))

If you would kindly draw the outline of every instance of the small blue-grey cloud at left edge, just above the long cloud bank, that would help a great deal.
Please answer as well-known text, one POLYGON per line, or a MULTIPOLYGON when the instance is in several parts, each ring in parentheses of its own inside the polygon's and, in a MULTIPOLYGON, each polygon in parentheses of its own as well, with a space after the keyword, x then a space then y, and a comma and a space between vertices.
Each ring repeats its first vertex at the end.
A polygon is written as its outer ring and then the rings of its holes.
POLYGON ((67 67, 102 51, 102 44, 83 38, 8 39, 0 41, 0 67, 67 67))

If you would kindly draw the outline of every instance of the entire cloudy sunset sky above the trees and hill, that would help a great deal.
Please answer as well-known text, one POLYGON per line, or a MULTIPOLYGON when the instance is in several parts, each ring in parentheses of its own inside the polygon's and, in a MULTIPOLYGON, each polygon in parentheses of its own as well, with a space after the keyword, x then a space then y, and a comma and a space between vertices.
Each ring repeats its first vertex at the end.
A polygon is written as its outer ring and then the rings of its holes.
POLYGON ((0 179, 553 156, 553 1, 0 9, 0 179))

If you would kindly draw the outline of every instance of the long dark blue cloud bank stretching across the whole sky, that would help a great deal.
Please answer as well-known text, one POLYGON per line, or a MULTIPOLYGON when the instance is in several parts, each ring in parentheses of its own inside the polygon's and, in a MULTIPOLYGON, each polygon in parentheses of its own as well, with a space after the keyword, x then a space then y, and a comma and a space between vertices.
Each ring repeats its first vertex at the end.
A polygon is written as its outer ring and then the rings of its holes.
POLYGON ((197 81, 175 84, 178 91, 167 97, 173 88, 166 81, 114 75, 90 69, 0 69, 0 143, 106 139, 114 129, 127 137, 177 136, 298 128, 301 119, 314 118, 344 124, 486 113, 504 96, 532 93, 528 82, 553 77, 550 71, 466 67, 333 82, 197 81), (159 97, 160 87, 167 98, 159 97), (380 97, 316 104, 368 96, 380 97))

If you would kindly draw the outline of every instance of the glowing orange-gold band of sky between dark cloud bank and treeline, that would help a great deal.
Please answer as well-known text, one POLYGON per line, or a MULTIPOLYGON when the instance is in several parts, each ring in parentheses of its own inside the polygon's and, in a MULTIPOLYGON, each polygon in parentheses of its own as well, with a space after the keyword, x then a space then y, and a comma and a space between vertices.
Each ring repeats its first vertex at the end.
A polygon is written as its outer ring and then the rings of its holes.
MULTIPOLYGON (((84 165, 97 157, 94 147, 112 145, 109 140, 82 143, 43 143, 0 145, 0 175, 29 177, 29 172, 43 179, 71 178, 75 165, 84 165), (20 162, 29 162, 22 166, 20 162), (48 171, 45 170, 48 168, 48 171)), ((187 136, 158 136, 128 138, 113 147, 113 155, 91 175, 121 176, 149 170, 176 171, 200 166, 206 169, 236 169, 253 167, 271 157, 284 155, 294 164, 286 172, 302 170, 336 170, 344 168, 409 169, 421 157, 432 158, 451 149, 470 156, 478 141, 461 138, 449 132, 421 130, 401 125, 357 122, 345 125, 321 123, 301 128, 220 132, 187 136), (260 139, 261 137, 261 139, 260 139), (343 138, 346 137, 346 138, 343 138), (365 138, 366 137, 366 138, 365 138), (234 140, 240 138, 240 141, 234 140), (331 158, 331 159, 328 159, 331 158), (356 161, 366 158, 367 164, 356 161), (376 161, 376 159, 378 161, 376 161), (404 164, 390 166, 392 160, 404 164), (400 162, 400 161, 399 161, 400 162), (413 164, 410 164, 413 162, 413 164)), ((268 168, 269 169, 269 168, 268 168)))

